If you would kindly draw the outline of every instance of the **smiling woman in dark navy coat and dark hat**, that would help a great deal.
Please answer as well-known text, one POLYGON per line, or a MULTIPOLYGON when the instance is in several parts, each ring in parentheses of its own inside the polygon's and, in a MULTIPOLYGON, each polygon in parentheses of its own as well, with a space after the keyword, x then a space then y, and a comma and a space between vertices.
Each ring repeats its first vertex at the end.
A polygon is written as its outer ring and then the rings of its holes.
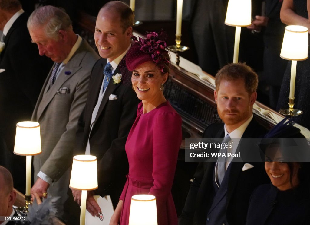
POLYGON ((309 224, 309 147, 299 129, 284 122, 262 140, 271 182, 254 190, 246 225, 309 224))

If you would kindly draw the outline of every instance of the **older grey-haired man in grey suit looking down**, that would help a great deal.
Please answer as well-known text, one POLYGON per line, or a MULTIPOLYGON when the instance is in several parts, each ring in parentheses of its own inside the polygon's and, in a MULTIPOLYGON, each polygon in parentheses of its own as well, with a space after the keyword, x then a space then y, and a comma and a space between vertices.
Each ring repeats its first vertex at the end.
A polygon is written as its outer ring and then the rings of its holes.
POLYGON ((32 120, 41 125, 42 154, 34 156, 31 193, 61 197, 57 202, 61 218, 68 198, 78 118, 86 102, 91 69, 99 56, 73 32, 69 16, 60 8, 36 9, 27 27, 40 55, 55 62, 32 115, 32 120))

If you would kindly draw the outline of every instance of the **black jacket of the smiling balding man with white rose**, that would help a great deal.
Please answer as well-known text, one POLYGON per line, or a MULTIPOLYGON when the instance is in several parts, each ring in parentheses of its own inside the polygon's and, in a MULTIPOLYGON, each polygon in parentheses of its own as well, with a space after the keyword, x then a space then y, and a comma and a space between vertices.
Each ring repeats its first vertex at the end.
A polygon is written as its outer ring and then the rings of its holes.
MULTIPOLYGON (((91 115, 97 104, 106 63, 106 59, 98 60, 91 72, 88 98, 78 121, 76 149, 77 153, 85 154, 89 137, 91 155, 98 158, 99 188, 95 193, 101 196, 111 195, 113 204, 116 206, 126 181, 125 176, 128 174, 125 143, 135 121, 140 100, 130 84, 124 85, 123 81, 114 84, 110 81, 90 132, 91 115), (109 100, 111 94, 117 95, 117 99, 109 100)), ((114 75, 121 73, 120 67, 125 68, 125 72, 122 70, 122 80, 131 74, 124 65, 125 61, 122 60, 114 72, 114 75)))

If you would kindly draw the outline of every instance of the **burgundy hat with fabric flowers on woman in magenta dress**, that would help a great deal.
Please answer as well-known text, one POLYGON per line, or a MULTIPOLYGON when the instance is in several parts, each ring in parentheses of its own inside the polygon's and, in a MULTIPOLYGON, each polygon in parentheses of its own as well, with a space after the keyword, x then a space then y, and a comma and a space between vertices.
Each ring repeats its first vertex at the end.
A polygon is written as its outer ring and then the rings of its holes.
POLYGON ((139 39, 132 36, 134 41, 126 54, 126 66, 129 71, 135 70, 139 65, 152 61, 162 73, 165 64, 169 65, 170 57, 166 50, 167 44, 164 41, 166 35, 163 31, 159 33, 150 32, 146 38, 139 39))

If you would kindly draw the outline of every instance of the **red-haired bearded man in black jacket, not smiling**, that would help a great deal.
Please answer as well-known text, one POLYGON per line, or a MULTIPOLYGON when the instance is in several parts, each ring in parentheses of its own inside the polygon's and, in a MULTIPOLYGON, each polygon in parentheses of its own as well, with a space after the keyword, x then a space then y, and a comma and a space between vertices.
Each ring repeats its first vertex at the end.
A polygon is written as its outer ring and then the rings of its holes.
MULTIPOLYGON (((255 138, 267 131, 253 118, 257 74, 247 65, 224 66, 215 76, 215 102, 224 123, 207 127, 204 138, 255 138)), ((268 182, 263 163, 228 162, 221 173, 219 162, 201 162, 194 174, 179 225, 242 225, 250 195, 268 182), (251 164, 253 167, 248 167, 251 164), (220 179, 222 177, 222 179, 220 179)))

